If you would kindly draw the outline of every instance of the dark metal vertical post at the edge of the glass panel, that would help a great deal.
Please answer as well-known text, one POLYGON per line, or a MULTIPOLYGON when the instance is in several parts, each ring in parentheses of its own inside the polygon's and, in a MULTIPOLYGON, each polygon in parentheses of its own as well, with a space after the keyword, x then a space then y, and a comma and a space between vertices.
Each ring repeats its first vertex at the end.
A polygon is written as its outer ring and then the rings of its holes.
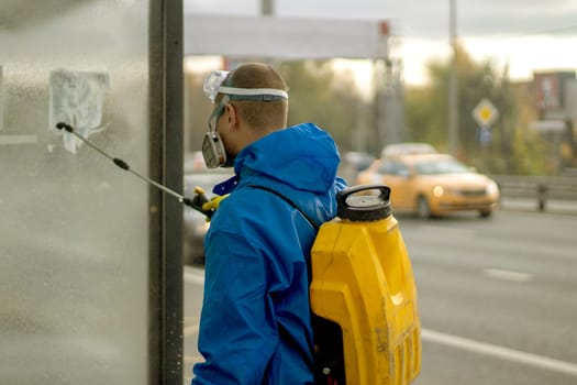
MULTIPOLYGON (((182 2, 149 1, 149 168, 182 190, 182 2)), ((148 383, 182 384, 182 205, 149 190, 148 383)))

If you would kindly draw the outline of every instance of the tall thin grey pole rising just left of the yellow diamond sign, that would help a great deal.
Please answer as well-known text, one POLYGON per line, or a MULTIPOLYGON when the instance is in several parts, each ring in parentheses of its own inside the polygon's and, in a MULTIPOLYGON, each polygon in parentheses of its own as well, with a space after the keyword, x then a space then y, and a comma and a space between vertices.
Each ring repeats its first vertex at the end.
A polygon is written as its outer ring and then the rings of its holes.
POLYGON ((450 1, 450 35, 453 57, 448 77, 448 152, 458 147, 458 84, 457 84, 457 10, 456 0, 450 1))

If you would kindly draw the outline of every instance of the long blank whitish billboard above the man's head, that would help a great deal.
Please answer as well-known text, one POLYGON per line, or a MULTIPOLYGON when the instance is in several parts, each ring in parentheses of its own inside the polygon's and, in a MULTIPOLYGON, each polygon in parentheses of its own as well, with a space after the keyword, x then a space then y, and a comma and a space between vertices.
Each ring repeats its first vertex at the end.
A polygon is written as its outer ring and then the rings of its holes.
POLYGON ((185 15, 185 55, 280 59, 386 58, 378 20, 185 15))

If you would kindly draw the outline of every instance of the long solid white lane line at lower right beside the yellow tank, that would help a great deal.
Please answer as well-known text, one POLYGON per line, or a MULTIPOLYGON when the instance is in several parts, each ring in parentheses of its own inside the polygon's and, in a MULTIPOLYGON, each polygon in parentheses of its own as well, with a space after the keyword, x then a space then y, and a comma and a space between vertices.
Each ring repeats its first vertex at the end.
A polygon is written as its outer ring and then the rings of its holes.
POLYGON ((490 343, 469 340, 462 337, 442 333, 430 329, 421 329, 421 338, 425 341, 436 342, 446 346, 467 350, 474 353, 491 355, 495 358, 542 367, 577 376, 577 364, 543 355, 521 352, 519 350, 493 345, 490 343))

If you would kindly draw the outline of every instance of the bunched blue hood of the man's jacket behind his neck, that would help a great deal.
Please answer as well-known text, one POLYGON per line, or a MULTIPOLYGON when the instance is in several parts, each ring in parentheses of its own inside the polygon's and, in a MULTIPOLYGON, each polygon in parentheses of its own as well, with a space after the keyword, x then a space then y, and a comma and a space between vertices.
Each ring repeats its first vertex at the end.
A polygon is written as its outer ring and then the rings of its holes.
POLYGON ((241 151, 234 170, 263 174, 296 189, 325 193, 341 157, 331 135, 312 123, 275 131, 241 151))

